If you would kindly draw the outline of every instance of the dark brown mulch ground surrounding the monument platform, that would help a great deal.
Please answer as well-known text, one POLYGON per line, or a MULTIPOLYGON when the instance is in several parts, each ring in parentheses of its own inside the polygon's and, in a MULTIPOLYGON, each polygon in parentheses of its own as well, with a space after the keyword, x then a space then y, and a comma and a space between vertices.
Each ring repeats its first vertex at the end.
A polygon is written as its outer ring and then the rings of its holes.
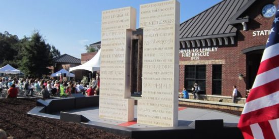
MULTIPOLYGON (((38 99, 0 99, 0 129, 16 138, 129 138, 73 122, 27 115, 38 99)), ((203 108, 182 105, 183 107, 203 108)), ((205 108, 208 109, 208 108, 205 108)), ((241 112, 214 109, 240 115, 241 112)))

